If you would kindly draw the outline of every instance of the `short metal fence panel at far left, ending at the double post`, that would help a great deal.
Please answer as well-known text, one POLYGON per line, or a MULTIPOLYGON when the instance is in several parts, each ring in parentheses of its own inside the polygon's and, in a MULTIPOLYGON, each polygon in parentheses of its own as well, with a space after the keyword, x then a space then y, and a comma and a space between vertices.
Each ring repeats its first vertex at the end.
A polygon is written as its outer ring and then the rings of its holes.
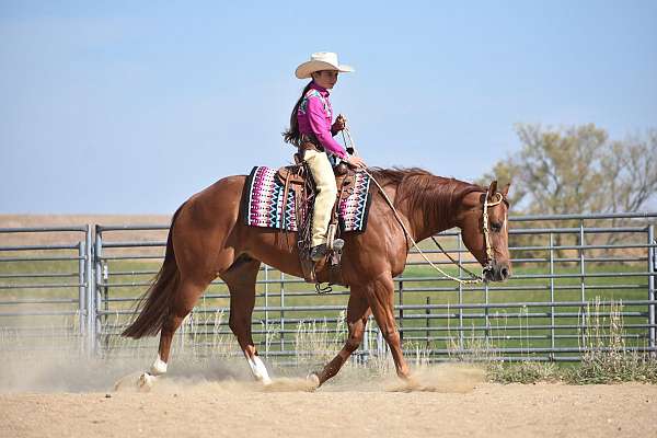
POLYGON ((89 226, 0 229, 1 350, 89 347, 91 241, 89 226))

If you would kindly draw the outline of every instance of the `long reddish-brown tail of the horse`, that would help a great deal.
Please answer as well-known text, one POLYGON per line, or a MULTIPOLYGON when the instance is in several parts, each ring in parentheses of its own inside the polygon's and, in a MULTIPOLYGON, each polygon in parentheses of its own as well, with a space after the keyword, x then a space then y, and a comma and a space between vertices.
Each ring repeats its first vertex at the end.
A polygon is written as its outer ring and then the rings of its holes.
POLYGON ((122 336, 139 339, 143 336, 155 335, 162 328, 164 319, 169 315, 169 310, 181 278, 181 272, 178 270, 175 254, 173 253, 171 237, 175 219, 183 206, 184 204, 180 206, 171 219, 164 263, 153 278, 151 286, 139 298, 137 308, 135 309, 135 314, 139 313, 139 315, 123 331, 122 336))

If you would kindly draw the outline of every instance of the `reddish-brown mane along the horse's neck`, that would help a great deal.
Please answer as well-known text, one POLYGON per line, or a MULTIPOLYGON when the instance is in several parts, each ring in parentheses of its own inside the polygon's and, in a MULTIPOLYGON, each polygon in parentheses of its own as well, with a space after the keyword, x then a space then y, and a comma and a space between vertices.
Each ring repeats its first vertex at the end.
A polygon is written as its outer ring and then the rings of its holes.
POLYGON ((453 177, 437 176, 419 168, 371 168, 368 171, 382 186, 388 184, 396 186, 395 208, 406 204, 408 211, 419 209, 427 224, 435 220, 450 223, 453 221, 450 215, 454 205, 465 195, 472 192, 486 193, 486 189, 480 185, 453 177))

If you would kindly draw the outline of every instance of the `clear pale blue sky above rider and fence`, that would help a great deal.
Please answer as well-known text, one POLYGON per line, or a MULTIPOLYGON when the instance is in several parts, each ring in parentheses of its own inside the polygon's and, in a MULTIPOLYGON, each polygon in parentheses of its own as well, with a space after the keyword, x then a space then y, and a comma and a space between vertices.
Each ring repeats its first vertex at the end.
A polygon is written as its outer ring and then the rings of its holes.
POLYGON ((515 123, 657 127, 657 2, 0 0, 0 214, 170 214, 283 165, 312 51, 369 165, 471 181, 515 123))

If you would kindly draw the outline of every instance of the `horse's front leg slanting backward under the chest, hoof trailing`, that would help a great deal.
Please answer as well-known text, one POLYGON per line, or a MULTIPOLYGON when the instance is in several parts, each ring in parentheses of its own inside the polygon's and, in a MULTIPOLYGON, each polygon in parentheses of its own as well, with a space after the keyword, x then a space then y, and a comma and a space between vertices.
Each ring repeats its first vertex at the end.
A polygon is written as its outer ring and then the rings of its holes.
POLYGON ((345 365, 349 356, 358 348, 365 333, 365 325, 369 315, 369 304, 364 291, 358 288, 351 288, 349 303, 347 306, 347 325, 349 327, 349 337, 345 346, 339 350, 337 356, 333 358, 321 372, 313 373, 311 377, 318 378, 318 385, 321 385, 333 376, 337 374, 339 369, 345 365))

